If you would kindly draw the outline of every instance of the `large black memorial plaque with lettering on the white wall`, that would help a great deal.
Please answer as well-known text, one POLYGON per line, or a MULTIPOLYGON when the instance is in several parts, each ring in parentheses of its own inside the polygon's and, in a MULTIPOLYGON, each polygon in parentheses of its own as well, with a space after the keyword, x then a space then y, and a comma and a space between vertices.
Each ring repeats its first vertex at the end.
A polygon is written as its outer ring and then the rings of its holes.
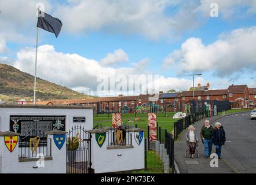
POLYGON ((65 131, 66 116, 10 116, 10 131, 20 133, 19 146, 28 146, 30 138, 47 142, 47 132, 53 129, 65 131))

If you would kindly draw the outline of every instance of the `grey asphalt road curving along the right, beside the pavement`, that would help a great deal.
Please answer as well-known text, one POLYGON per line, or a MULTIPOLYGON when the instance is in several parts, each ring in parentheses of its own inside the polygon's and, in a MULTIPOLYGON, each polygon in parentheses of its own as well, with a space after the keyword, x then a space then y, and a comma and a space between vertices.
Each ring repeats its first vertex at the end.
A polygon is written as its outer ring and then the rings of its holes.
POLYGON ((222 157, 237 173, 256 173, 256 120, 237 113, 218 120, 225 129, 222 157))

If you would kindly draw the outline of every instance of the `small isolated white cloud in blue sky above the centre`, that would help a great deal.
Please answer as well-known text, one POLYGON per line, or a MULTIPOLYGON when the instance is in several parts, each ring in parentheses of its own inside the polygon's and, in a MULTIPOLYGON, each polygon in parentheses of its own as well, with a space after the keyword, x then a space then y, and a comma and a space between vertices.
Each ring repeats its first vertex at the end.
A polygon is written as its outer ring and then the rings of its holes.
POLYGON ((115 50, 114 53, 108 53, 107 56, 100 60, 103 65, 112 65, 119 62, 127 62, 128 56, 122 49, 115 50))

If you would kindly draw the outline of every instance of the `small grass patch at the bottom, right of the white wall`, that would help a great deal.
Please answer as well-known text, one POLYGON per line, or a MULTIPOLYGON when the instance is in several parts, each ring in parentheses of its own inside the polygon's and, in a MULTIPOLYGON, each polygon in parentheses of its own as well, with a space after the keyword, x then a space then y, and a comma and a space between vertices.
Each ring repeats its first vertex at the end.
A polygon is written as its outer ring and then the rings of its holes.
POLYGON ((163 162, 155 151, 147 151, 147 171, 132 171, 131 173, 164 173, 163 162))

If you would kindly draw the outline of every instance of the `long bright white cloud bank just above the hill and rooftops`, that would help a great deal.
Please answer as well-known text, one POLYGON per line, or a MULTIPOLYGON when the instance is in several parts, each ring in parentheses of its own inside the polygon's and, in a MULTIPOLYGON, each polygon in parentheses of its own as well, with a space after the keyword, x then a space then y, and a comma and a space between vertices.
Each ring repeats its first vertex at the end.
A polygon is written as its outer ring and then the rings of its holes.
MULTIPOLYGON (((112 76, 123 75, 129 79, 129 75, 151 75, 146 72, 146 66, 148 65, 149 58, 144 58, 141 61, 134 63, 130 68, 112 68, 103 66, 100 62, 95 60, 89 60, 88 58, 79 56, 78 54, 69 54, 57 52, 51 45, 42 45, 38 47, 38 77, 60 84, 60 81, 64 86, 70 87, 74 90, 84 92, 91 90, 94 95, 116 95, 122 94, 139 94, 146 90, 145 79, 141 79, 143 88, 140 92, 131 92, 129 89, 126 91, 115 91, 110 89, 109 92, 101 91, 97 92, 97 86, 100 82, 97 79, 111 79, 112 76), (142 66, 142 68, 141 68, 142 66), (109 94, 110 93, 110 94, 109 94)), ((17 53, 17 59, 14 61, 14 67, 21 71, 34 75, 35 65, 35 49, 25 48, 17 53)), ((119 76, 120 77, 120 76, 119 76)), ((116 79, 114 79, 116 80, 116 79)), ((136 79, 138 81, 138 79, 136 79)), ((148 88, 158 84, 159 89, 155 89, 155 92, 159 90, 169 90, 174 88, 176 90, 188 89, 192 85, 192 80, 179 79, 176 77, 165 78, 163 76, 155 77, 152 79, 153 83, 149 84, 148 88)), ((117 82, 117 81, 116 81, 117 82)), ((119 80, 118 80, 119 82, 119 80)), ((196 83, 204 82, 203 79, 196 79, 196 83)), ((131 82, 129 82, 130 84, 131 82)))

